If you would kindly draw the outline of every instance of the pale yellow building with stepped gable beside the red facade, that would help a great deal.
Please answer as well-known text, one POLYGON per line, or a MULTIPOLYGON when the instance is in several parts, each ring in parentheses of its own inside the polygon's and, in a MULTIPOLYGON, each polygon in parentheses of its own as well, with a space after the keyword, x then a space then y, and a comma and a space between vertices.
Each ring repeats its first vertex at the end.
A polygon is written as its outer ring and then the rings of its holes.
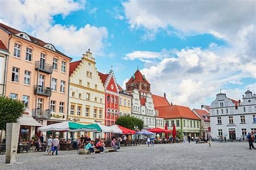
MULTIPOLYGON (((105 119, 105 91, 92 53, 70 63, 68 120, 81 124, 100 123, 105 119)), ((75 133, 74 138, 84 133, 75 133)), ((93 133, 88 133, 90 138, 93 133)))

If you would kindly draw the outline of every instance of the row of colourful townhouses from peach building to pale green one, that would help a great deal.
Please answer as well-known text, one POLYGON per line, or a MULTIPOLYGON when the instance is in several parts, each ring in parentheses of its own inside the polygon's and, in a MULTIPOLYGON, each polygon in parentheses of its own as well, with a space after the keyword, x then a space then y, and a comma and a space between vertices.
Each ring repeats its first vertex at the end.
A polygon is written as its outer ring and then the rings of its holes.
MULTIPOLYGON (((188 107, 172 105, 164 96, 151 93, 151 85, 137 69, 125 89, 114 71, 100 73, 90 50, 79 61, 52 44, 0 23, 0 92, 22 100, 26 112, 19 119, 19 141, 39 136, 39 126, 61 121, 115 125, 130 115, 144 121, 144 129, 172 129, 182 135, 200 135, 200 118, 188 107)), ((44 135, 63 132, 44 132, 44 135)), ((78 137, 82 133, 74 133, 78 137)), ((93 133, 89 133, 93 137, 93 133)))

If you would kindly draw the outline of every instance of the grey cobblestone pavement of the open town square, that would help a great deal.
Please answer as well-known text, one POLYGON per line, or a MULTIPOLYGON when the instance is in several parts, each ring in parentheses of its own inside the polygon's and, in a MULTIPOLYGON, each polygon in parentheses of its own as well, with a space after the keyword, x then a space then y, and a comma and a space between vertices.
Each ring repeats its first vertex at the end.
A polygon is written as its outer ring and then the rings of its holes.
POLYGON ((256 150, 248 143, 213 142, 178 143, 122 147, 118 152, 78 155, 76 150, 59 151, 58 156, 43 152, 18 154, 17 164, 4 164, 0 155, 0 169, 254 169, 256 150))

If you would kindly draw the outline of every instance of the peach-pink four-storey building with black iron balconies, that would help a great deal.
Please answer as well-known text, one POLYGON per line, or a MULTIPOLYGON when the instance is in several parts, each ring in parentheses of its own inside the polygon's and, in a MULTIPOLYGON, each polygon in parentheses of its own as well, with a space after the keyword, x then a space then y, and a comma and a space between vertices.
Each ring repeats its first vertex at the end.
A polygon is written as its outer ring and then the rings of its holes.
POLYGON ((40 135, 39 124, 67 120, 68 73, 72 58, 52 44, 2 23, 0 39, 10 53, 5 95, 26 105, 26 112, 20 118, 19 140, 28 141, 33 135, 40 135))

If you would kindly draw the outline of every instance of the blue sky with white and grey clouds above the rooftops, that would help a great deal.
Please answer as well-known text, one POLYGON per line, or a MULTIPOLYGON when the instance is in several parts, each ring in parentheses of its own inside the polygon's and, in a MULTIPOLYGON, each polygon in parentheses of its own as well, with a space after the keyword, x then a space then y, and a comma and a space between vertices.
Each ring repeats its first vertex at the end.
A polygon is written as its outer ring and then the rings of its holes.
POLYGON ((255 1, 0 1, 0 22, 125 83, 137 67, 151 92, 200 108, 224 92, 256 94, 255 1))

